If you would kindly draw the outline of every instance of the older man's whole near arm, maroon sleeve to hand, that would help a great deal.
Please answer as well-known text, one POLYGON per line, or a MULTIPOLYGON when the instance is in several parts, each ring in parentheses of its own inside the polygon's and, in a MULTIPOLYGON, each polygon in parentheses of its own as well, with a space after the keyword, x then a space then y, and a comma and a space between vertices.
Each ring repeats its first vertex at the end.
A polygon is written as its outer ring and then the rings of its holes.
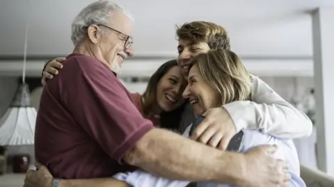
POLYGON ((241 186, 268 186, 286 179, 285 165, 272 159, 268 150, 247 155, 224 152, 152 128, 152 122, 141 116, 116 76, 100 62, 64 63, 62 72, 58 78, 65 78, 61 80, 66 83, 63 103, 112 159, 168 179, 241 186))

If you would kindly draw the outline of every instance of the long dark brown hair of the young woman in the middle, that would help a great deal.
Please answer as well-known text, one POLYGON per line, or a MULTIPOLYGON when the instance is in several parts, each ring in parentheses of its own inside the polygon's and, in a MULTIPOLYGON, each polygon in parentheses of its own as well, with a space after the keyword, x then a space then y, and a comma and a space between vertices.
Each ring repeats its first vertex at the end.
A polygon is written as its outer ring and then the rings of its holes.
MULTIPOLYGON (((148 87, 146 88, 143 98, 145 102, 143 103, 143 113, 145 117, 150 117, 152 112, 152 107, 157 104, 157 87, 159 81, 161 80, 166 73, 173 66, 177 66, 176 60, 170 60, 162 64, 157 71, 153 73, 150 80, 148 81, 148 87)), ((186 102, 184 102, 180 107, 174 109, 170 112, 161 112, 160 114, 160 125, 161 128, 166 128, 169 130, 179 130, 179 125, 181 121, 182 112, 184 111, 184 106, 186 102)))

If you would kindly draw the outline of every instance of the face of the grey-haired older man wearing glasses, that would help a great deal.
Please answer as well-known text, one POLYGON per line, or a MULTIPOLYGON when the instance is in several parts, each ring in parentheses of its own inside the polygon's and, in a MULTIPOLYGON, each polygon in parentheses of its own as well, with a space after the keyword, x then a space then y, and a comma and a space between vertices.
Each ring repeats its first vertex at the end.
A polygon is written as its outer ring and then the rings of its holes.
POLYGON ((115 73, 120 73, 123 60, 132 55, 132 46, 125 48, 128 37, 132 37, 132 20, 121 11, 112 15, 111 22, 103 29, 98 47, 106 63, 115 73))

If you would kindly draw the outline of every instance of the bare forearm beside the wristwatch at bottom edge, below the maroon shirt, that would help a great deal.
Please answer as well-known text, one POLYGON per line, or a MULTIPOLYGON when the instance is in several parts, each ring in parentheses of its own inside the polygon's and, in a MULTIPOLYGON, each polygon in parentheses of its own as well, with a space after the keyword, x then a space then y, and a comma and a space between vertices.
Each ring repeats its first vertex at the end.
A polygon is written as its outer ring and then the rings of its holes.
POLYGON ((102 179, 66 179, 61 180, 59 187, 131 187, 125 181, 114 178, 102 179))

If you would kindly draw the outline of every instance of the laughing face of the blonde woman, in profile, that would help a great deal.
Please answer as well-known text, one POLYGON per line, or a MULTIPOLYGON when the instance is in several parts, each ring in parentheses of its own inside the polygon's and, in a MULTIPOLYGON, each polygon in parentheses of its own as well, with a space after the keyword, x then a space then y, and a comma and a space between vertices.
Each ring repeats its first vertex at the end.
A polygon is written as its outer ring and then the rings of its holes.
POLYGON ((207 109, 220 107, 219 92, 210 86, 200 75, 198 66, 192 66, 188 76, 188 86, 183 92, 184 98, 189 98, 193 114, 202 115, 207 109))

